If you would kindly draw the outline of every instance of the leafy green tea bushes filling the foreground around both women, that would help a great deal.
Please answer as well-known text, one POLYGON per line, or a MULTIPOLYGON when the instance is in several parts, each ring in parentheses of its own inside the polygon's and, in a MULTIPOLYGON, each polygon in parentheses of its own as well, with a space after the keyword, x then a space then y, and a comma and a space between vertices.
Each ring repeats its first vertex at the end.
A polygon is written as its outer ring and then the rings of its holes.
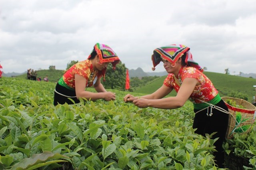
MULTIPOLYGON (((174 110, 140 109, 123 97, 142 93, 111 89, 115 101, 55 107, 55 85, 0 79, 0 169, 219 169, 212 156, 216 139, 194 133, 189 101, 174 110)), ((255 131, 254 125, 227 140, 227 168, 256 169, 255 131)))

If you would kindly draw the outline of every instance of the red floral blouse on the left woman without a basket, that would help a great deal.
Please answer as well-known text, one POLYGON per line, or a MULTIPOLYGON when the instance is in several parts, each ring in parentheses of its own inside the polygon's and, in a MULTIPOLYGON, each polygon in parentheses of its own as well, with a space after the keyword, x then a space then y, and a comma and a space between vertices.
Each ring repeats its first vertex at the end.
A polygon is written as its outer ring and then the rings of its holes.
POLYGON ((89 59, 76 63, 64 73, 62 77, 63 81, 72 89, 75 89, 75 74, 81 75, 86 79, 86 87, 90 87, 94 84, 95 77, 102 77, 101 71, 94 71, 92 61, 89 59))

